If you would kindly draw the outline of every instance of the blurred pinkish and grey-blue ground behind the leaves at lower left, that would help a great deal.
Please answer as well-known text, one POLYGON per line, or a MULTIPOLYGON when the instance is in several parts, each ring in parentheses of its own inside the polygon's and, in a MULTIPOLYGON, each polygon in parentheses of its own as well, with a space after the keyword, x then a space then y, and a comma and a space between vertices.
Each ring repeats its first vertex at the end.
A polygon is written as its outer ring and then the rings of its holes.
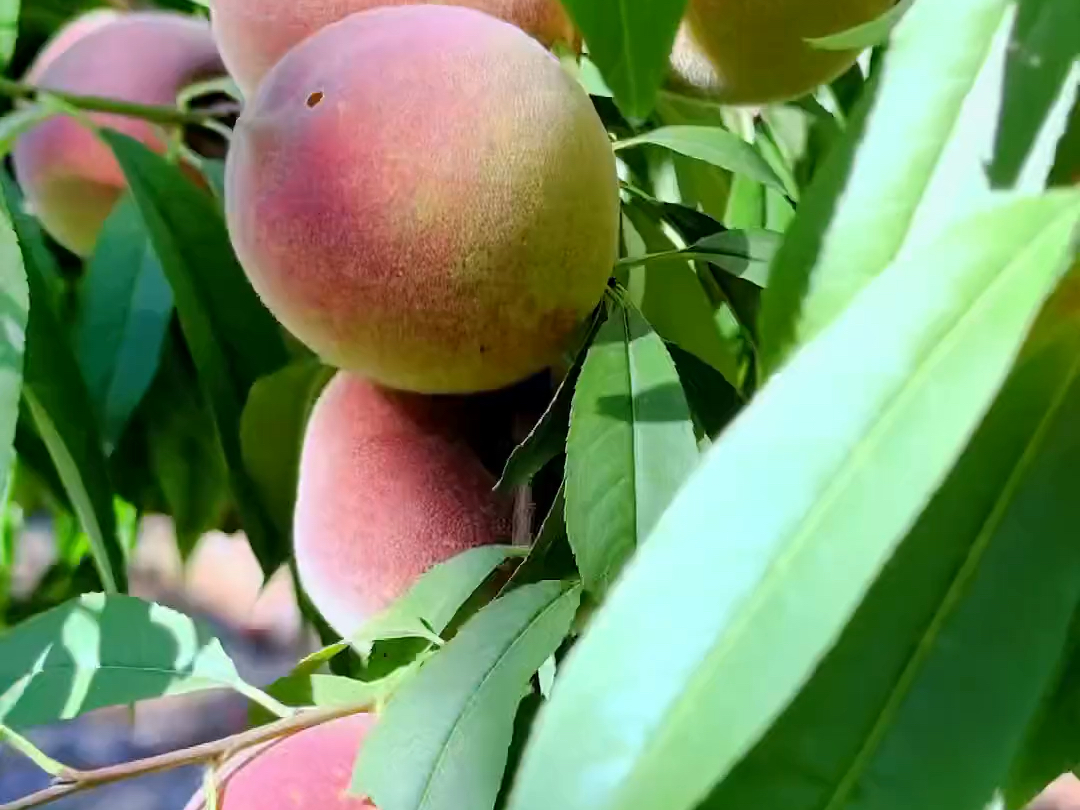
MULTIPOLYGON (((29 521, 16 543, 12 598, 39 589, 57 561, 51 521, 29 521)), ((210 532, 187 566, 180 562, 172 522, 141 521, 131 569, 132 593, 206 621, 232 656, 241 676, 258 686, 285 675, 297 658, 318 647, 296 607, 282 569, 264 582, 243 535, 210 532)), ((70 723, 30 730, 39 747, 75 768, 98 768, 195 745, 242 731, 248 704, 233 692, 202 692, 95 712, 70 723)), ((63 799, 57 810, 183 810, 198 788, 198 768, 184 768, 63 799)), ((0 746, 0 804, 46 787, 48 777, 0 746)))

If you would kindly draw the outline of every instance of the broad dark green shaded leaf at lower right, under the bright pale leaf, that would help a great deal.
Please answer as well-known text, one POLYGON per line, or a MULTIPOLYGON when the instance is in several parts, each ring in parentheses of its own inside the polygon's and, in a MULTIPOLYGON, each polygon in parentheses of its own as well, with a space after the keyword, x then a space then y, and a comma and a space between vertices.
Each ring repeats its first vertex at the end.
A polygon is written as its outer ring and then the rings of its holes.
MULTIPOLYGON (((1080 595, 1080 320, 1067 318, 1022 356, 837 646, 702 810, 978 810, 1002 783, 1080 595)), ((1048 308, 1040 327, 1059 322, 1048 308)), ((1062 728, 1075 711, 1045 716, 1062 728)), ((1077 761, 1050 760, 1025 798, 1077 761)))

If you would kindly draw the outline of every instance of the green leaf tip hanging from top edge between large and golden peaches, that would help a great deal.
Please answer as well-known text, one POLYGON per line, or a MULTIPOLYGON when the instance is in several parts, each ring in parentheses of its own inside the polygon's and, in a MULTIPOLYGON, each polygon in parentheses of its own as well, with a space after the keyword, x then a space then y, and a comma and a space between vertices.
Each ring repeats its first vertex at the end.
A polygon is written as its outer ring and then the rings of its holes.
POLYGON ((667 76, 687 0, 563 0, 616 103, 645 118, 667 76))

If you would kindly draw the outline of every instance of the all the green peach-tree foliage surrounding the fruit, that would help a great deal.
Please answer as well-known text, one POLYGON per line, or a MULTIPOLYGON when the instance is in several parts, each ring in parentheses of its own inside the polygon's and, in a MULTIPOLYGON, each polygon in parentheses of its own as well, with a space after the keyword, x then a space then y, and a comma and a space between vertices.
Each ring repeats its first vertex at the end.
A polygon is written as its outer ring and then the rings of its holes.
MULTIPOLYGON (((86 5, 0 9, 4 154, 103 109, 15 81, 86 5)), ((375 710, 351 789, 381 810, 1021 808, 1080 768, 1075 0, 903 0, 809 38, 866 49, 847 73, 754 110, 669 81, 686 0, 564 5, 619 257, 561 365, 469 400, 515 543, 266 691, 125 593, 156 513, 183 556, 242 529, 289 564, 334 373, 264 308, 191 146, 232 113, 127 109, 164 154, 98 131, 129 190, 85 259, 4 170, 0 741, 63 780, 27 727, 220 688, 266 739, 375 710), (15 595, 26 521, 57 563, 15 595)))

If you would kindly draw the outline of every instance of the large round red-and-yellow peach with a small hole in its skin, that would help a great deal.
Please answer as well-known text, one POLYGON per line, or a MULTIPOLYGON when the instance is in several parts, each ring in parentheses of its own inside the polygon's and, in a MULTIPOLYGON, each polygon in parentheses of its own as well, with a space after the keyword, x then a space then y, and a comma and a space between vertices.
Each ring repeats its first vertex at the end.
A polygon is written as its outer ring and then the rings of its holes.
POLYGON ((293 49, 240 117, 226 208, 287 329, 421 393, 556 362, 619 230, 589 96, 514 26, 450 5, 353 14, 293 49))

